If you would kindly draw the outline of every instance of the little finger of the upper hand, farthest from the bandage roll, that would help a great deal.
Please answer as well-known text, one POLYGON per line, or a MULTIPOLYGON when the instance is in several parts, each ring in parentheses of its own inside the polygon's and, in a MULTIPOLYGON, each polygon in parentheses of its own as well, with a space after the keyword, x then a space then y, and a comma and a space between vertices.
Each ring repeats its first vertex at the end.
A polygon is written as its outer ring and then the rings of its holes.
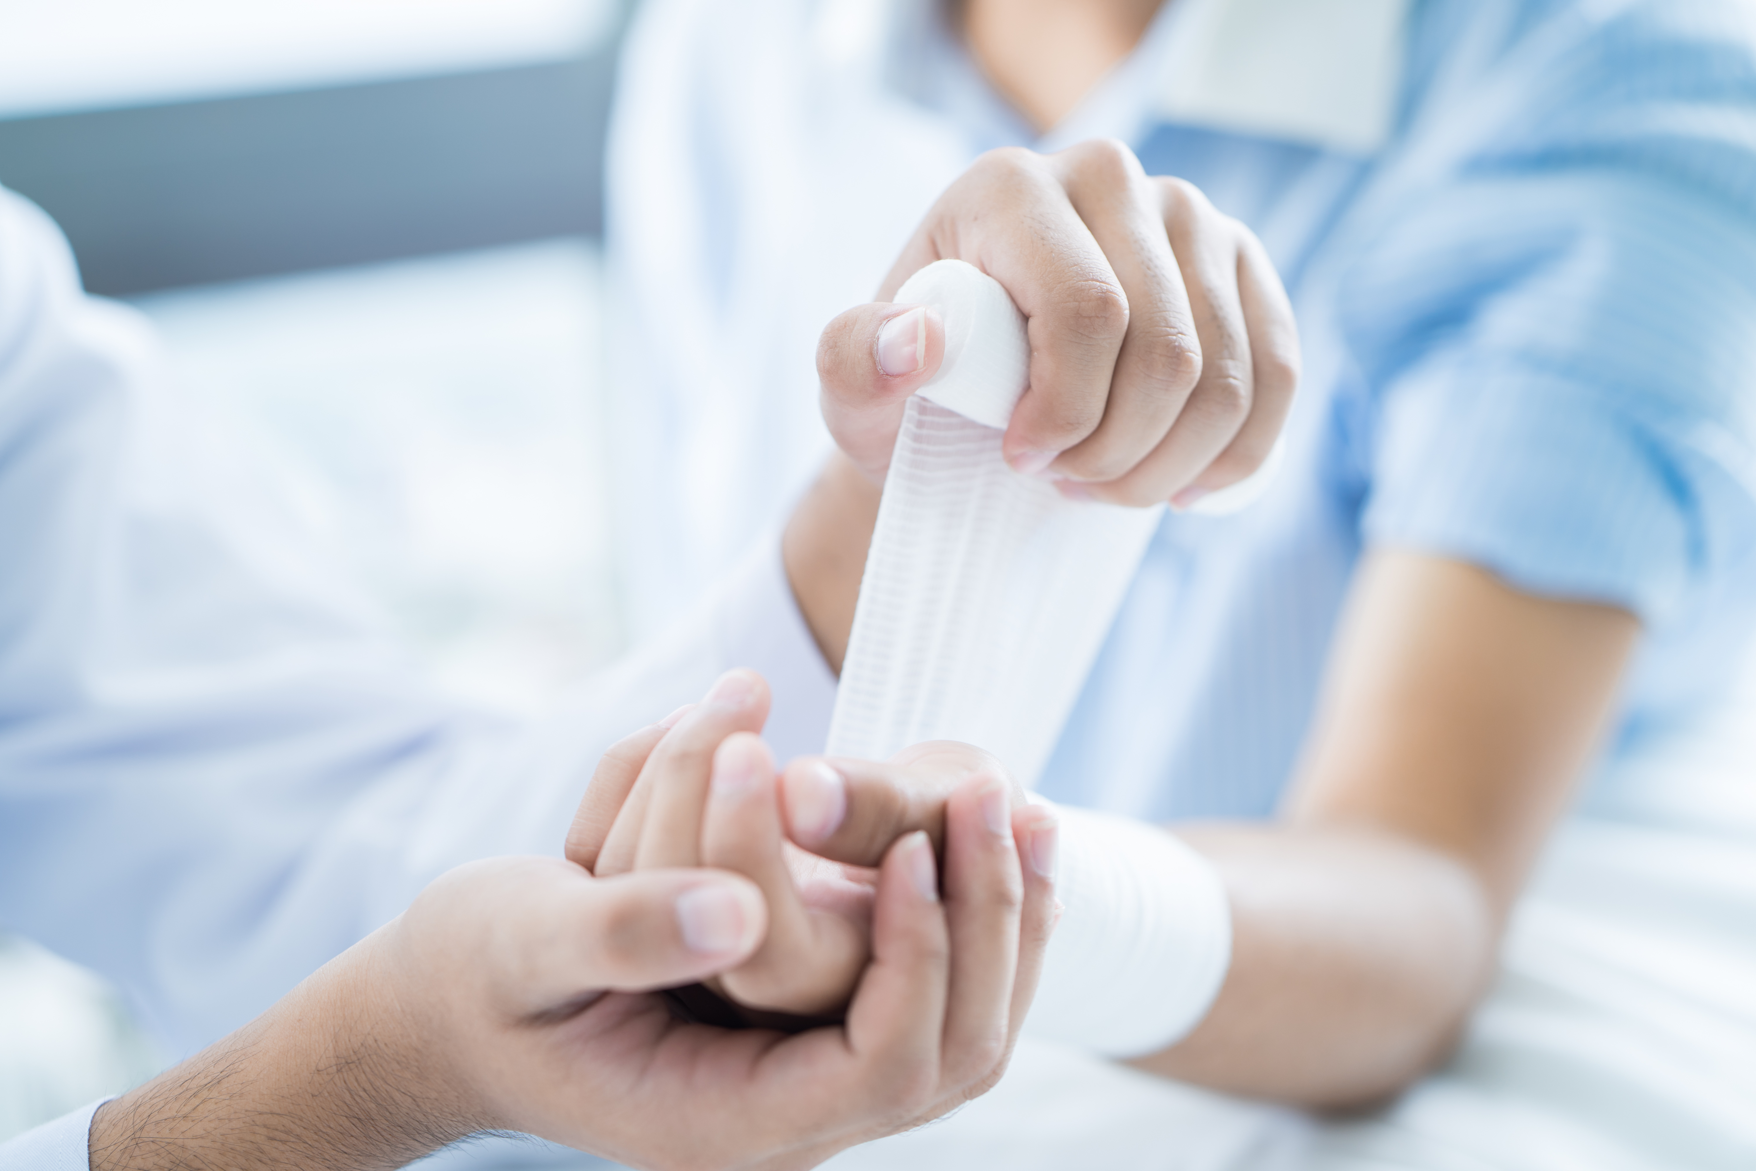
POLYGON ((1292 409, 1292 393, 1299 384, 1299 330, 1275 265, 1249 232, 1238 249, 1238 297, 1250 334, 1250 372, 1256 379, 1250 418, 1206 471, 1177 493, 1171 500, 1177 507, 1189 507, 1261 469, 1292 409))

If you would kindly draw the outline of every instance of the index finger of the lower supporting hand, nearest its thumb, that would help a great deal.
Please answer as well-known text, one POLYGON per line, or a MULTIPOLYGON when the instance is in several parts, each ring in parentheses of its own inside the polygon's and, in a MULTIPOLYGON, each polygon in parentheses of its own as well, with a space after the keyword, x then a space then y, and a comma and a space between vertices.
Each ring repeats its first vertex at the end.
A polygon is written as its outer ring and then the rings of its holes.
POLYGON ((918 1108, 936 1096, 950 964, 932 844, 925 834, 908 834, 878 869, 873 962, 846 1020, 852 1053, 899 1099, 913 1099, 897 1101, 899 1108, 918 1108))

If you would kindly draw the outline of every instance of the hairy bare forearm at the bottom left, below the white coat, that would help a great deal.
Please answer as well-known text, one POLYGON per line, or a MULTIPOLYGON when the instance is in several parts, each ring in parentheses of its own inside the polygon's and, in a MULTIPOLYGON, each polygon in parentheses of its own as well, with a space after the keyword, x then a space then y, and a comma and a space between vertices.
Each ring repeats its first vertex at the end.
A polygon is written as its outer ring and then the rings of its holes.
POLYGON ((400 1167, 472 1125, 413 1060, 367 939, 91 1122, 91 1171, 400 1167))

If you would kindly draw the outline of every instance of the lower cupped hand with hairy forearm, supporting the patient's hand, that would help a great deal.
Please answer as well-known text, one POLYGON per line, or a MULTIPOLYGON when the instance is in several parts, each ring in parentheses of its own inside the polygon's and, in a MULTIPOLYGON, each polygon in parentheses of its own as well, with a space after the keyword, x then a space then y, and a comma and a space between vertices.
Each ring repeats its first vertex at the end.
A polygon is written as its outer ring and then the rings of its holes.
MULTIPOLYGON (((623 741, 602 774, 637 771, 669 730, 623 741)), ((1018 811, 996 830, 983 792, 939 801, 943 880, 922 832, 869 858, 869 959, 832 1027, 681 1024, 650 992, 760 950, 771 916, 746 876, 594 878, 560 858, 492 858, 439 878, 262 1018, 98 1110, 91 1166, 397 1167, 509 1129, 634 1167, 785 1171, 920 1125, 999 1080, 1052 929, 1052 883, 1013 846, 1040 818, 1018 811), (732 899, 716 952, 692 950, 678 916, 704 888, 732 899)))

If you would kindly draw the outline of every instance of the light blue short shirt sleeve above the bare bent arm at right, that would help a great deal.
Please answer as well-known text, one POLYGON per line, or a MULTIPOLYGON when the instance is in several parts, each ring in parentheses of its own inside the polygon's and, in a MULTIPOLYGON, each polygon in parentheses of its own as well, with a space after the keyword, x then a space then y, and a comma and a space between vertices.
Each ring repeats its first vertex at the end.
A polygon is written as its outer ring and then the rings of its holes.
POLYGON ((1343 293, 1370 544, 1649 625, 1751 572, 1756 70, 1717 51, 1731 100, 1630 60, 1644 97, 1605 104, 1575 63, 1521 112, 1547 137, 1475 126, 1493 151, 1408 181, 1343 293))

